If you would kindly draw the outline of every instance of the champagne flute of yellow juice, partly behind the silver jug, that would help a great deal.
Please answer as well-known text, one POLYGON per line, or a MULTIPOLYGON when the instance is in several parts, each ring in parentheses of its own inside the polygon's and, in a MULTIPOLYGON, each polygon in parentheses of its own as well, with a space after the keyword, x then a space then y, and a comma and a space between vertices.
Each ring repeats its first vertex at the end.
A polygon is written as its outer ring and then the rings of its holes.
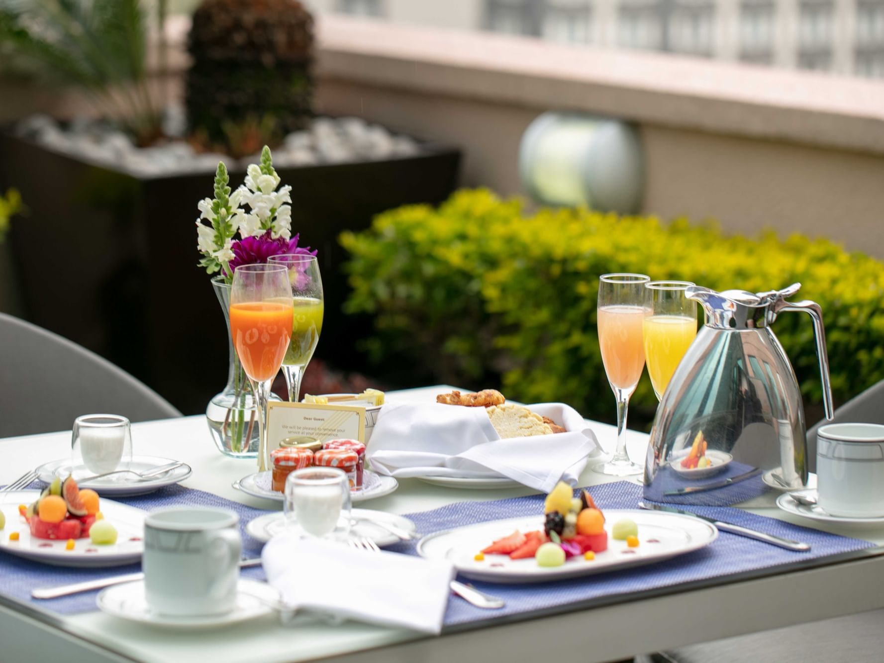
POLYGON ((644 356, 657 400, 697 336, 697 303, 684 296, 690 281, 651 281, 644 284, 644 356))

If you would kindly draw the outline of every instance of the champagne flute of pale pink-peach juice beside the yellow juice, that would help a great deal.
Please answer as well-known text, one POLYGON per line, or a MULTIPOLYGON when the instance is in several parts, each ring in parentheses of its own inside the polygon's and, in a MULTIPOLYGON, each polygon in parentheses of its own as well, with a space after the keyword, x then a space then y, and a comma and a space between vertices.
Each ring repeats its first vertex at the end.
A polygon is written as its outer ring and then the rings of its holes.
POLYGON ((626 414, 629 397, 636 391, 644 370, 642 324, 644 274, 603 274, 598 278, 598 346, 608 383, 617 400, 617 450, 610 461, 592 469, 609 476, 629 476, 642 471, 626 453, 626 414))

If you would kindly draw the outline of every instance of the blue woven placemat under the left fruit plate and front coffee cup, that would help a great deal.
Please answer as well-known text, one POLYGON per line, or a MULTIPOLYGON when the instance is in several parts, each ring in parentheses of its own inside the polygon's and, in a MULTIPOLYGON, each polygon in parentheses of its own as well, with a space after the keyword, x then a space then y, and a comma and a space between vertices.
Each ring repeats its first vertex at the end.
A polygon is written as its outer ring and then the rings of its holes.
MULTIPOLYGON (((33 488, 42 488, 42 484, 32 484, 33 488)), ((132 507, 151 511, 160 507, 194 506, 194 507, 225 507, 240 514, 240 531, 242 533, 242 553, 246 557, 259 557, 262 544, 246 534, 246 523, 256 516, 266 514, 266 511, 247 507, 230 499, 220 498, 210 492, 196 491, 181 485, 172 485, 161 488, 149 495, 141 495, 133 498, 114 498, 114 501, 128 504, 132 507)), ((31 598, 31 590, 37 587, 54 587, 68 583, 81 583, 86 580, 96 580, 109 575, 121 575, 137 573, 141 571, 141 564, 129 564, 124 567, 113 568, 65 568, 51 567, 39 562, 25 560, 15 555, 0 552, 0 593, 12 598, 30 602, 35 607, 51 610, 56 613, 85 613, 95 610, 95 596, 98 591, 84 591, 80 594, 62 598, 31 598)), ((264 579, 263 568, 244 568, 241 574, 247 578, 257 580, 264 579)))

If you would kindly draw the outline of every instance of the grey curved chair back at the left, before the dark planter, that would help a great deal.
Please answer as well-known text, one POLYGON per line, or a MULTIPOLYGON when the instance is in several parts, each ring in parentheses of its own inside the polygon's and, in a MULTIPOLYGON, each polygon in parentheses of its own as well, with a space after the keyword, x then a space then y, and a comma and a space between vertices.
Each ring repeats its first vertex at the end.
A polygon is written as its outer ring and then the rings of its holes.
POLYGON ((42 327, 0 313, 0 438, 70 430, 80 415, 133 422, 181 413, 97 354, 42 327))

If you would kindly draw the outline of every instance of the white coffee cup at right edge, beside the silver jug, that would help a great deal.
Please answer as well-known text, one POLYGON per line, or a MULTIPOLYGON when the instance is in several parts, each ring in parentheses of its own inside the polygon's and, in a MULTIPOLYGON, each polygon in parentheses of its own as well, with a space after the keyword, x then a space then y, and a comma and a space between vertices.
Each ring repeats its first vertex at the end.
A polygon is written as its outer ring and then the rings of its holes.
POLYGON ((829 423, 819 429, 817 502, 832 515, 884 515, 884 426, 829 423))

